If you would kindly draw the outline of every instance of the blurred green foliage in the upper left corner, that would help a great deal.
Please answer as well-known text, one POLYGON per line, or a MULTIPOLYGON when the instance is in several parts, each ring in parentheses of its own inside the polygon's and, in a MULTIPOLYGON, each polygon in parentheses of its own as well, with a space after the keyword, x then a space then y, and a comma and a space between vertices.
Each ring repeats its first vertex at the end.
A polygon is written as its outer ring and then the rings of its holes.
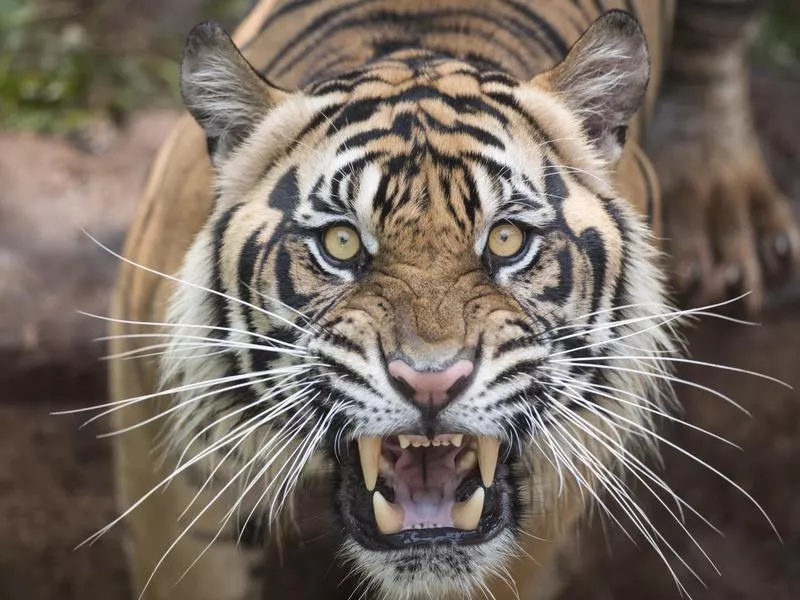
POLYGON ((170 2, 150 15, 136 0, 0 0, 0 128, 63 133, 100 115, 177 105, 181 28, 243 15, 246 2, 170 2))

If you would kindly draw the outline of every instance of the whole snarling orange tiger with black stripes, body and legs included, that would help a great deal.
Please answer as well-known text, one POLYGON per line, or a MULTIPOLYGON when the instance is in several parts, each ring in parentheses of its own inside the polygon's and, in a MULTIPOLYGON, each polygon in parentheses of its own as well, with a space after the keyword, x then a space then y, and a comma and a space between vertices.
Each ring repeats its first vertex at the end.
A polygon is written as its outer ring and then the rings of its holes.
POLYGON ((680 508, 641 453, 666 274, 757 309, 798 252, 750 119, 761 4, 283 0, 193 29, 113 301, 135 592, 277 597, 252 525, 292 548, 312 499, 335 550, 306 573, 339 561, 354 597, 546 597, 590 507, 676 559, 628 487, 680 508))

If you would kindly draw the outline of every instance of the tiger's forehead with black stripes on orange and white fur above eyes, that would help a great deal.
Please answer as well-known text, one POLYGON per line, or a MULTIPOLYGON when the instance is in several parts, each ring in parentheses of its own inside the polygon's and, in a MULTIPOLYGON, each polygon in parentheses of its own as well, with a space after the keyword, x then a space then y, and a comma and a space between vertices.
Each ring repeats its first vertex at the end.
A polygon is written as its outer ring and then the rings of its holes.
POLYGON ((476 234, 499 217, 552 217, 542 202, 546 144, 514 135, 509 116, 477 88, 435 83, 378 97, 359 89, 326 116, 314 158, 301 167, 304 225, 351 222, 372 252, 387 221, 412 214, 476 234))

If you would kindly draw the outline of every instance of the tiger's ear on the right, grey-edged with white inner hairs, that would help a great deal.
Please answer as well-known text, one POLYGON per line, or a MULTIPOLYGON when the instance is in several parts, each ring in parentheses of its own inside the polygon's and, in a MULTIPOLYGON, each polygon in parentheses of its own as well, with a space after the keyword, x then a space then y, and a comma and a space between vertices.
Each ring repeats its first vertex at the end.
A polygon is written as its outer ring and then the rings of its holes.
POLYGON ((650 79, 647 40, 621 10, 598 18, 555 67, 533 83, 558 94, 581 118, 584 131, 611 165, 625 145, 628 122, 650 79))

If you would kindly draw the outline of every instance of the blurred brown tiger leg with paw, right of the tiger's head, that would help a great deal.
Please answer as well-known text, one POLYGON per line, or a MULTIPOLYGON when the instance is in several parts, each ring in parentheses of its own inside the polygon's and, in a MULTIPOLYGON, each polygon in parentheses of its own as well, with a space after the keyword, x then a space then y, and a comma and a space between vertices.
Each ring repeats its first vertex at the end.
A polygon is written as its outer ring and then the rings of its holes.
POLYGON ((797 265, 800 236, 761 152, 746 51, 765 2, 679 0, 664 88, 649 137, 664 193, 673 282, 684 301, 751 292, 797 265))

